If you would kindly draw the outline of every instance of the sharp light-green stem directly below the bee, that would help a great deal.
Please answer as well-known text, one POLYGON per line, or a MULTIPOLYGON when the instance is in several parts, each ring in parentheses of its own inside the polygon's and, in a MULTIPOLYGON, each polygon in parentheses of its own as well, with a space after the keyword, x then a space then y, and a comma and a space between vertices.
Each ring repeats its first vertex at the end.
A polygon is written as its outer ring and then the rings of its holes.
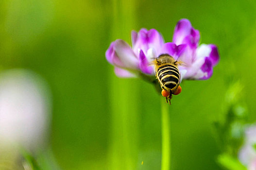
POLYGON ((170 170, 171 165, 171 127, 170 127, 170 105, 165 98, 161 97, 162 112, 162 163, 161 170, 170 170))

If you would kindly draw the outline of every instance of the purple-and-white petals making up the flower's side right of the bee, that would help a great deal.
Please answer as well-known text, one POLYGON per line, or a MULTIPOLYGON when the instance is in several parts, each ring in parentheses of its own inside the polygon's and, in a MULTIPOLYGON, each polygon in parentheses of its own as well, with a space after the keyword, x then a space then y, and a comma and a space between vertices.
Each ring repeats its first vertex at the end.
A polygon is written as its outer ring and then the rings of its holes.
POLYGON ((184 79, 205 80, 213 73, 213 67, 219 62, 219 52, 214 44, 198 46, 200 34, 195 30, 188 19, 181 19, 175 29, 173 42, 176 45, 186 44, 186 51, 180 56, 186 66, 180 70, 187 70, 184 79))

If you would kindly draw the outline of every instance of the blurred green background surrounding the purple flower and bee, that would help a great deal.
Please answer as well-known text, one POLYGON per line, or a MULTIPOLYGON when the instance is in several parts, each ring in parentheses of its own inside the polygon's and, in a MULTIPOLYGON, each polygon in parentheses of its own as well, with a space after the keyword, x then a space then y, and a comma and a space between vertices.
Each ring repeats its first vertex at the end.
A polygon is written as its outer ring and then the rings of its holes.
POLYGON ((160 169, 160 96, 142 80, 117 78, 104 53, 117 38, 131 44, 140 28, 171 42, 181 18, 221 60, 211 79, 183 82, 172 99, 171 168, 219 170, 212 124, 230 82, 244 86, 240 100, 256 120, 256 1, 0 0, 0 69, 31 69, 48 82, 49 147, 61 169, 160 169))

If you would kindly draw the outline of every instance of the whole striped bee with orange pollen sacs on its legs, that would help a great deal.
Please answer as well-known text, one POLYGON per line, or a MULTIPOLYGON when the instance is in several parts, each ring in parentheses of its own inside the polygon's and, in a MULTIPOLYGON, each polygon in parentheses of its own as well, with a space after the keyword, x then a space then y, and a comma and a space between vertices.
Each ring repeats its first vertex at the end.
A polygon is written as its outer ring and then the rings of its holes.
POLYGON ((182 65, 182 62, 169 54, 161 54, 151 64, 155 66, 155 76, 162 88, 162 95, 166 97, 166 102, 171 104, 172 94, 181 92, 178 66, 182 65))

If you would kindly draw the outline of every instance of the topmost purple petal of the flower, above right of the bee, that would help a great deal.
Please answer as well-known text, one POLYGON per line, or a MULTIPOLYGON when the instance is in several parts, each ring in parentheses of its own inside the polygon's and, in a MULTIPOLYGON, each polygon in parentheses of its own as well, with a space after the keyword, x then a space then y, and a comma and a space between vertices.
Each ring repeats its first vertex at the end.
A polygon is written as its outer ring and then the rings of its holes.
POLYGON ((172 42, 176 45, 188 44, 191 47, 197 47, 199 39, 199 31, 191 26, 188 19, 181 19, 178 21, 174 29, 172 42))

